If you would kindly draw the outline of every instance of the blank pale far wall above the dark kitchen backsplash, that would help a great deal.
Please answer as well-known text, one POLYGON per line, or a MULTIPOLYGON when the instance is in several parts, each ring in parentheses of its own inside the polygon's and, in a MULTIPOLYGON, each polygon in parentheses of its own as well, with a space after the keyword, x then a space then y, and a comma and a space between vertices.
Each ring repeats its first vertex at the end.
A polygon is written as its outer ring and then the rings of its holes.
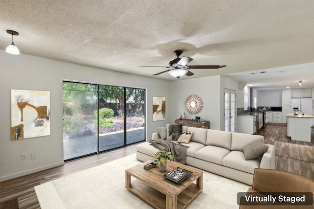
POLYGON ((282 90, 258 90, 257 106, 259 107, 281 107, 282 90))

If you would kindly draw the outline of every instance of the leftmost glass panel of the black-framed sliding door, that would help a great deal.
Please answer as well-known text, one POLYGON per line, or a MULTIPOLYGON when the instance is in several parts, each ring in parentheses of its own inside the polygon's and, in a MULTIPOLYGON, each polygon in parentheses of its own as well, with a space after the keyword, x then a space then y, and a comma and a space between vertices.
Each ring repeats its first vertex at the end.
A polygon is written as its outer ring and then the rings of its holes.
POLYGON ((64 160, 97 152, 97 85, 63 82, 64 160))

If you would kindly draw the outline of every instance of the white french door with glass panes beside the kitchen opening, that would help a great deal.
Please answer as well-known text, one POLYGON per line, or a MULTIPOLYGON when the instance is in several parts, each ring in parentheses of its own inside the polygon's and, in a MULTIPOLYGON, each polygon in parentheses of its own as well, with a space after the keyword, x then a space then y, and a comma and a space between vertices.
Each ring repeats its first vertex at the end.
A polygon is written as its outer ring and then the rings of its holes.
POLYGON ((235 131, 235 91, 224 89, 225 131, 235 131))

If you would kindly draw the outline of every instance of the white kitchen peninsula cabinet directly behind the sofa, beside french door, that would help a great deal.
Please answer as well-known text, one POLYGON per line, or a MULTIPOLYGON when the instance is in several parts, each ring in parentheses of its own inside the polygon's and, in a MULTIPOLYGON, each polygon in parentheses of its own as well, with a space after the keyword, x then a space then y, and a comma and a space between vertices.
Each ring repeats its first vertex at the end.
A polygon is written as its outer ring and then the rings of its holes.
POLYGON ((257 134, 257 116, 256 115, 236 116, 235 132, 244 134, 257 134))

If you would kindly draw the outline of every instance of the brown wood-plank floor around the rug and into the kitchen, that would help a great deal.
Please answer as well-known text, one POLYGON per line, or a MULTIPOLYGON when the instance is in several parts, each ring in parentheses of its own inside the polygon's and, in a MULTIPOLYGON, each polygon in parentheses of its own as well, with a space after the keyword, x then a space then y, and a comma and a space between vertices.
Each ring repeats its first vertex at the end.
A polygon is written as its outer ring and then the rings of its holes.
MULTIPOLYGON (((267 124, 258 132, 264 136, 265 143, 275 145, 277 170, 297 173, 314 181, 314 129, 311 130, 311 142, 291 141, 286 133, 287 127, 280 124, 267 124)), ((1 182, 0 209, 40 209, 34 186, 131 155, 135 153, 135 146, 133 144, 1 182)))

